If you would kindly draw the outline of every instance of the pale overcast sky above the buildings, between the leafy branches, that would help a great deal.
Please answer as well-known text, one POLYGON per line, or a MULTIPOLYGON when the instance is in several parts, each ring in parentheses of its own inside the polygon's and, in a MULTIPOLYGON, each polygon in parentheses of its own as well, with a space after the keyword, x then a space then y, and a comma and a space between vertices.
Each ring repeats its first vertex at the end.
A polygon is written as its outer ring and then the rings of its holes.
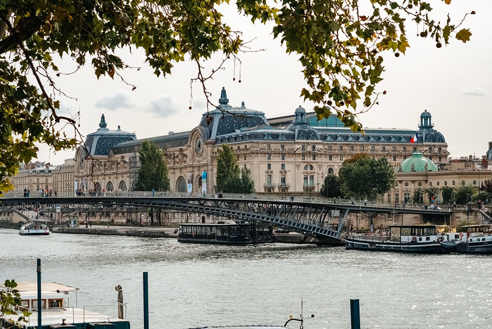
MULTIPOLYGON (((231 2, 232 3, 232 2, 231 2)), ((492 64, 490 54, 489 14, 492 2, 478 0, 453 0, 450 6, 432 0, 433 18, 445 21, 449 12, 452 21, 458 23, 465 13, 469 15, 463 27, 473 35, 466 44, 451 40, 451 45, 437 49, 430 38, 417 37, 414 24, 407 24, 410 49, 396 58, 393 53, 384 56, 382 77, 378 91, 379 105, 359 116, 364 127, 417 129, 420 113, 432 114, 435 129, 440 131, 453 158, 484 155, 488 141, 490 103, 492 93, 492 64)), ((302 105, 312 110, 313 104, 303 102, 301 65, 298 56, 287 55, 271 34, 272 24, 252 25, 250 20, 236 14, 233 6, 224 6, 225 19, 233 29, 244 32, 243 39, 254 39, 249 45, 261 52, 239 54, 242 64, 228 62, 226 69, 216 73, 207 83, 212 100, 217 102, 222 87, 227 90, 229 104, 240 106, 244 101, 249 109, 259 110, 266 116, 292 113, 302 105), (239 73, 241 83, 239 80, 239 73)), ((80 110, 80 130, 87 135, 96 131, 104 113, 109 129, 135 132, 138 139, 166 135, 169 131, 190 130, 196 127, 206 103, 201 86, 193 85, 191 100, 190 79, 196 77, 193 63, 176 64, 172 75, 156 77, 144 63, 143 53, 131 49, 118 53, 128 65, 142 69, 127 69, 125 80, 137 88, 132 91, 115 76, 115 80, 101 76, 96 79, 90 66, 76 74, 61 75, 56 79, 58 88, 75 99, 60 97, 61 108, 76 113, 80 110), (189 109, 191 101, 192 109, 189 109)), ((215 56, 204 63, 206 70, 215 68, 221 61, 215 56)), ((73 64, 59 63, 60 69, 69 72, 73 64)), ((54 154, 41 146, 39 160, 52 164, 63 163, 75 155, 74 150, 54 154)))

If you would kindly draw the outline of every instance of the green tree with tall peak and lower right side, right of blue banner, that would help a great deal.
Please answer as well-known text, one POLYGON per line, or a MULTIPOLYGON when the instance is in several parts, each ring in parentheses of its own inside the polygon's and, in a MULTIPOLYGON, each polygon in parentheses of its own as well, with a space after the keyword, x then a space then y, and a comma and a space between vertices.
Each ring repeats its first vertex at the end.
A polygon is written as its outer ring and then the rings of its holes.
POLYGON ((225 193, 255 193, 255 182, 249 169, 239 170, 237 156, 227 144, 218 150, 216 189, 225 193))

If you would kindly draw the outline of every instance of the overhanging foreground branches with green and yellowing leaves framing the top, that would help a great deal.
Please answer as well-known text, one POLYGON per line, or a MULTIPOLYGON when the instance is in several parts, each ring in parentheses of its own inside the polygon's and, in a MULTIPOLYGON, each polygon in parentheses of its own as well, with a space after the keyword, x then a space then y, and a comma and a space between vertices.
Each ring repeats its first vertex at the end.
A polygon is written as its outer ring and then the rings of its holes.
MULTIPOLYGON (((61 58, 78 67, 90 62, 97 77, 111 78, 123 78, 128 69, 115 55, 118 48, 143 49, 157 76, 170 74, 177 62, 192 61, 197 65, 192 81, 203 85, 208 100, 206 80, 248 50, 241 32, 223 22, 219 7, 226 4, 228 0, 0 2, 0 177, 14 175, 20 162, 36 158, 37 142, 58 151, 81 140, 78 115, 60 115, 55 96, 63 91, 53 77, 67 73, 58 69, 61 58), (223 61, 207 75, 200 60, 214 53, 222 54, 223 61), (66 124, 73 126, 73 137, 60 132, 66 124)), ((354 131, 362 131, 357 114, 377 103, 380 94, 376 86, 384 67, 379 53, 399 56, 409 47, 405 20, 438 48, 451 37, 467 42, 471 36, 460 27, 462 20, 455 25, 449 18, 433 19, 430 2, 423 0, 237 0, 234 6, 252 23, 274 22, 274 37, 287 53, 299 55, 303 66, 306 86, 300 95, 319 104, 314 108, 319 119, 333 111, 354 131)), ((2 178, 0 191, 9 188, 8 178, 2 178)))

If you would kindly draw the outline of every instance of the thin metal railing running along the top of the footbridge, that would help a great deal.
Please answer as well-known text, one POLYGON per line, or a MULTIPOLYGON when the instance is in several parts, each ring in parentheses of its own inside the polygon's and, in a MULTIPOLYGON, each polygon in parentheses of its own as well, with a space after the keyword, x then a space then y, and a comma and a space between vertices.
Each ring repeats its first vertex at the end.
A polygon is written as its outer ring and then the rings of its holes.
MULTIPOLYGON (((97 192, 62 192, 51 193, 46 196, 46 193, 33 191, 29 194, 25 194, 23 191, 15 192, 9 191, 3 194, 4 198, 39 198, 46 197, 48 199, 54 197, 166 197, 166 198, 206 198, 206 199, 237 199, 237 200, 264 200, 264 201, 285 201, 285 202, 307 202, 317 204, 341 204, 341 205, 354 205, 356 207, 369 206, 378 208, 394 208, 394 209, 418 209, 426 210, 424 205, 404 204, 404 203, 385 203, 374 202, 366 200, 349 200, 349 199, 336 199, 326 198, 320 196, 278 196, 268 194, 234 194, 234 193, 186 193, 186 192, 153 192, 153 191, 97 191, 97 192)), ((0 198, 1 200, 1 198, 0 198)), ((448 209, 447 206, 441 207, 435 206, 433 209, 428 207, 427 210, 441 211, 448 209)))

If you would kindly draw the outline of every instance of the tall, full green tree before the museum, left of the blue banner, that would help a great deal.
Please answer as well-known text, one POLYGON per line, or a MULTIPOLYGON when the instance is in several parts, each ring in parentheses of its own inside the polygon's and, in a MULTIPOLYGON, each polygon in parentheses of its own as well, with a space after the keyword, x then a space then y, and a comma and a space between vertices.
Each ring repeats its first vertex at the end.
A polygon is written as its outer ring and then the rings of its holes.
POLYGON ((167 191, 170 189, 167 162, 162 150, 148 140, 142 142, 138 150, 140 168, 133 184, 135 191, 167 191))

